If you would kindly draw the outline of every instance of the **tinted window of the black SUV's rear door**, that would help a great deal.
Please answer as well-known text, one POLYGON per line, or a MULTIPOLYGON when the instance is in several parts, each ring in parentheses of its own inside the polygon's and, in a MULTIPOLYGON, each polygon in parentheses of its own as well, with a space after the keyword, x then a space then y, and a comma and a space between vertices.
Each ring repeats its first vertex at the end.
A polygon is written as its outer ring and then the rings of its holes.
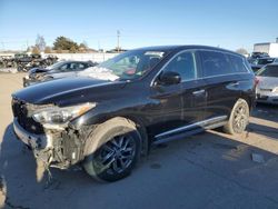
POLYGON ((216 51, 200 51, 203 77, 232 73, 229 59, 226 53, 216 51))

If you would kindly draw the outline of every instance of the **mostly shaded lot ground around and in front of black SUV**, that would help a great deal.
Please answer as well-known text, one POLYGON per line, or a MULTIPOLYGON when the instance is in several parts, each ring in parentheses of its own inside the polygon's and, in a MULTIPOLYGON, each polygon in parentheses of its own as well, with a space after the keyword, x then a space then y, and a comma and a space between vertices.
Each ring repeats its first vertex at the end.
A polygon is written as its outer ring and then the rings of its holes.
POLYGON ((241 137, 208 131, 156 147, 115 183, 78 168, 51 169, 48 181, 12 132, 22 77, 0 74, 0 208, 278 208, 277 107, 258 106, 241 137))

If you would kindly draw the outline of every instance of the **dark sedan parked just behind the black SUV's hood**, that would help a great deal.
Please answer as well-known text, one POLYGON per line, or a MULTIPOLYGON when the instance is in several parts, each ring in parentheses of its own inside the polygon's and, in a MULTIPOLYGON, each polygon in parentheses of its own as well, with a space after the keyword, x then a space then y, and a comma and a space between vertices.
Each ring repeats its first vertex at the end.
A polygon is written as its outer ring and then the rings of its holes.
POLYGON ((23 87, 41 81, 77 76, 81 70, 96 64, 91 61, 60 61, 47 68, 33 68, 23 78, 23 87))

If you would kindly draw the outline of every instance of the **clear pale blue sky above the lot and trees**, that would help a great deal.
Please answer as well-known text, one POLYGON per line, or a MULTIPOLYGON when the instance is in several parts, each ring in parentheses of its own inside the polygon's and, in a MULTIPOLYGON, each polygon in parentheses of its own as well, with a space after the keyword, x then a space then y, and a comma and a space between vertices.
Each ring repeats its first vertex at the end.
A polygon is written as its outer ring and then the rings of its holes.
POLYGON ((93 49, 206 44, 230 50, 278 37, 278 0, 0 0, 0 50, 24 50, 38 34, 93 49))

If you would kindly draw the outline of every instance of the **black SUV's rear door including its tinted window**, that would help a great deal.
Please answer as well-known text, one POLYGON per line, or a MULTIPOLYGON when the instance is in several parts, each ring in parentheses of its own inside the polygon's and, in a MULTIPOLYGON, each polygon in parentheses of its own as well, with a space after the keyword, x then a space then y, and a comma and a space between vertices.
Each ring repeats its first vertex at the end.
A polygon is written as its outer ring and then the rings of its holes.
POLYGON ((235 56, 214 50, 200 50, 198 54, 201 60, 202 78, 207 92, 205 119, 219 118, 221 120, 228 118, 241 93, 241 72, 240 69, 235 69, 235 64, 231 63, 235 56))

